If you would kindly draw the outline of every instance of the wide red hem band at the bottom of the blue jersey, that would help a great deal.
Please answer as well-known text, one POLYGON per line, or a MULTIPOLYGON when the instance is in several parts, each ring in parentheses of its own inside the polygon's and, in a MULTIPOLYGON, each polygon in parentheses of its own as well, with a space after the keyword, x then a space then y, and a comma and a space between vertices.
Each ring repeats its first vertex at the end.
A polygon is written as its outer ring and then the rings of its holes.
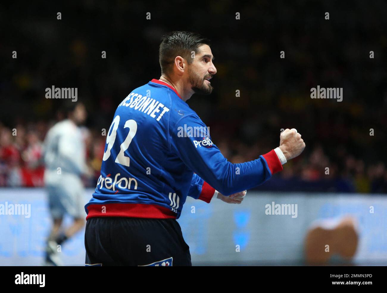
POLYGON ((87 206, 86 220, 92 217, 134 217, 149 219, 176 219, 176 214, 161 205, 145 203, 93 203, 87 206))

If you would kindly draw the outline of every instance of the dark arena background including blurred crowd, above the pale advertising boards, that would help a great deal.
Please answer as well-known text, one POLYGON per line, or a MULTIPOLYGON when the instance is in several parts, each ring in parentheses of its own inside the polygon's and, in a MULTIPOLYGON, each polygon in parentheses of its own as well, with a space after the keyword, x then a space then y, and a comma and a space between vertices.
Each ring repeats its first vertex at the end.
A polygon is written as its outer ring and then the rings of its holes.
POLYGON ((213 93, 188 104, 229 161, 275 148, 281 128, 306 143, 259 190, 387 192, 385 1, 14 2, 1 4, 0 24, 0 186, 43 184, 42 142, 63 119, 62 101, 45 98, 52 85, 78 88, 98 178, 101 129, 128 93, 161 75, 163 34, 189 30, 211 40, 217 74, 213 93), (343 88, 342 102, 311 99, 317 85, 343 88))

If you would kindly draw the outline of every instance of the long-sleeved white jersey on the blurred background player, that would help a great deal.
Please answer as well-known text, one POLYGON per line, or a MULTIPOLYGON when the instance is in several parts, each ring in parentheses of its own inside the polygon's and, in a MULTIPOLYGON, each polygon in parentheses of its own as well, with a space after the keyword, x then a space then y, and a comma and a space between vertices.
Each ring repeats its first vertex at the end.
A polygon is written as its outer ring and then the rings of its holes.
POLYGON ((69 119, 60 121, 48 131, 44 161, 46 185, 65 178, 79 178, 86 172, 86 148, 82 132, 74 122, 69 119))

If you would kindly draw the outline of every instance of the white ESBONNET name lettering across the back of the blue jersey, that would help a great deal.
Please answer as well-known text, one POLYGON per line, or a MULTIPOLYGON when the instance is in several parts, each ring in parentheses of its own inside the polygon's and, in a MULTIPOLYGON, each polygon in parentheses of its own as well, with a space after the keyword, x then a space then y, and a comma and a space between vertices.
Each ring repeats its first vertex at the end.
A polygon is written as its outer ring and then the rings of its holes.
POLYGON ((147 115, 150 115, 152 118, 157 117, 156 121, 160 121, 161 117, 170 110, 155 99, 148 96, 142 96, 137 93, 130 93, 120 103, 120 105, 118 105, 118 107, 134 108, 135 110, 139 110, 147 115), (127 103, 129 99, 130 101, 127 103), (159 113, 161 109, 163 109, 162 112, 156 116, 156 113, 159 113))

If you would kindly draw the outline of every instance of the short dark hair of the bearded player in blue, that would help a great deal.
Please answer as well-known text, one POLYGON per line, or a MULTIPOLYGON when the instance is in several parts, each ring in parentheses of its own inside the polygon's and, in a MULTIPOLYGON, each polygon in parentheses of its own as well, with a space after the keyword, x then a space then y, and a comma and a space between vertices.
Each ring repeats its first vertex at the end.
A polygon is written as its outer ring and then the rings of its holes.
POLYGON ((210 45, 210 40, 198 33, 173 31, 163 36, 159 48, 161 74, 171 73, 176 56, 182 56, 188 64, 192 64, 194 60, 191 58, 191 52, 196 54, 201 45, 210 45))

